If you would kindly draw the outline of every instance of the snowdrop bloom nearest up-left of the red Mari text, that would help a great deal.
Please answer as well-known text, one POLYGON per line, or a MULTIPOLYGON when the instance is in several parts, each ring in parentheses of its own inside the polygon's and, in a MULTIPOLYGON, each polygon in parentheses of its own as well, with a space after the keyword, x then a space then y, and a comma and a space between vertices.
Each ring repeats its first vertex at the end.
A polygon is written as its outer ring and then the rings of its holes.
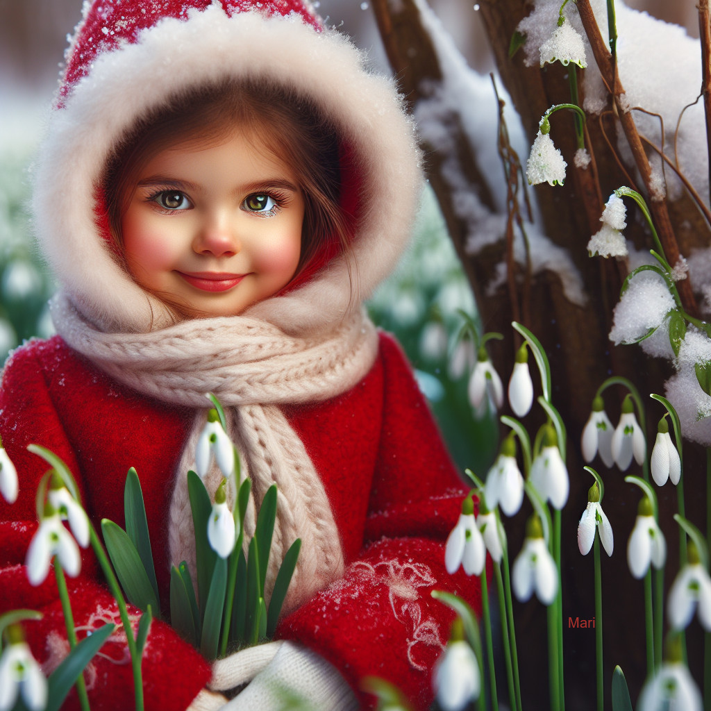
POLYGON ((531 516, 526 523, 523 548, 511 570, 513 592, 520 602, 526 602, 533 591, 544 605, 550 605, 558 592, 558 572, 545 540, 540 520, 531 516))

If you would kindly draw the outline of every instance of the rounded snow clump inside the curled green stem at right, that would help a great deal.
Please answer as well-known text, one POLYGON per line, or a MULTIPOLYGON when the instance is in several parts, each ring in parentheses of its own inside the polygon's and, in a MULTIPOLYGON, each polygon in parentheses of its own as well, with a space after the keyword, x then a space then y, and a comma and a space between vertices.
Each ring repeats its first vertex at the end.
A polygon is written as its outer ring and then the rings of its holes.
POLYGON ((676 308, 666 282, 654 272, 640 272, 628 282, 628 288, 615 306, 610 340, 636 343, 663 324, 676 308))

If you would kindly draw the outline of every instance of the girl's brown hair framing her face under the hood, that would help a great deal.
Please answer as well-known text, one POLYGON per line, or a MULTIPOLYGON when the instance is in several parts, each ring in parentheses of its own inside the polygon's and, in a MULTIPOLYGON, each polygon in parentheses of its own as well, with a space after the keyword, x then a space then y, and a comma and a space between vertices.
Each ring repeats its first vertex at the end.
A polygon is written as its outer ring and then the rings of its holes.
POLYGON ((340 203, 336 129, 311 100, 281 85, 255 80, 225 80, 174 95, 141 117, 119 141, 102 181, 109 228, 119 253, 123 215, 138 175, 151 158, 176 140, 213 144, 227 139, 235 128, 254 134, 298 178, 305 211, 294 279, 328 247, 346 255, 350 274, 352 225, 340 203))

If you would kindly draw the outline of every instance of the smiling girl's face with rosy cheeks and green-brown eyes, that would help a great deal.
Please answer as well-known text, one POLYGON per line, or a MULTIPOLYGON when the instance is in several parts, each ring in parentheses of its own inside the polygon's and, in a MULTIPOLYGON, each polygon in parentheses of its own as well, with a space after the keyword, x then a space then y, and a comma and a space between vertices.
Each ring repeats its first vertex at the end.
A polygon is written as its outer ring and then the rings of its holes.
POLYGON ((293 171, 237 131, 149 160, 122 218, 124 256, 136 282, 183 316, 233 316, 291 281, 303 221, 293 171))

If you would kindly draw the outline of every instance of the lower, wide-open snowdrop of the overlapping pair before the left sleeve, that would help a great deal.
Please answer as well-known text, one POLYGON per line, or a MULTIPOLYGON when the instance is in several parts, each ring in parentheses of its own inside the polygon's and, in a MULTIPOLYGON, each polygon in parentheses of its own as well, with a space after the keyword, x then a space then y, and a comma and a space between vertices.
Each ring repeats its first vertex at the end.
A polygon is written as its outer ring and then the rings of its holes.
POLYGON ((59 559, 65 572, 76 577, 81 568, 79 546, 64 528, 58 511, 46 503, 44 516, 27 549, 27 577, 31 585, 39 585, 47 577, 52 558, 59 559))

